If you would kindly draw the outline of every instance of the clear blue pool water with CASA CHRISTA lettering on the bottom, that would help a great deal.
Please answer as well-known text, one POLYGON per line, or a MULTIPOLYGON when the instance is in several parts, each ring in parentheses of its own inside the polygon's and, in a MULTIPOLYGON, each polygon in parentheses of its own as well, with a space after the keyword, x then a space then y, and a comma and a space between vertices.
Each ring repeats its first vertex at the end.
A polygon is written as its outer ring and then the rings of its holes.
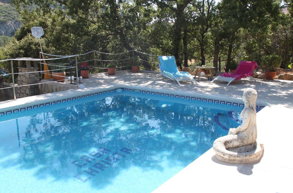
POLYGON ((0 192, 151 192, 241 121, 241 109, 114 95, 1 116, 0 192))

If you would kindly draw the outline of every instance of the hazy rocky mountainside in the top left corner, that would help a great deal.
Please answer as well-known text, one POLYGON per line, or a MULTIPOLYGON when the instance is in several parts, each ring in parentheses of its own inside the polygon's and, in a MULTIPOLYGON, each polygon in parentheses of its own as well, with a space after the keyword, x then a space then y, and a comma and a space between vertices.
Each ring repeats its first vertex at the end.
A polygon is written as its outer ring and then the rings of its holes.
POLYGON ((11 39, 21 26, 20 15, 10 1, 0 0, 0 46, 11 39))

